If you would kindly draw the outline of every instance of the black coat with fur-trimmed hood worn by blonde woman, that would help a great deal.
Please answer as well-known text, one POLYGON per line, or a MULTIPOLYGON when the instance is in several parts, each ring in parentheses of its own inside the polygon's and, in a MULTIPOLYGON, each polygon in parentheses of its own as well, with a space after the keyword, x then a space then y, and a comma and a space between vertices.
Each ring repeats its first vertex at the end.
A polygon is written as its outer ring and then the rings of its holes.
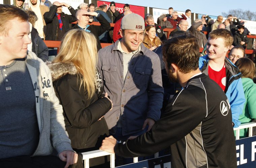
POLYGON ((65 127, 72 148, 75 151, 99 149, 104 135, 108 135, 108 128, 104 117, 98 119, 111 109, 111 102, 106 97, 102 97, 102 88, 100 92, 96 90, 93 97, 88 99, 87 90, 84 90, 83 86, 79 89, 80 80, 72 63, 57 62, 48 66, 52 73, 56 95, 63 106, 65 127))

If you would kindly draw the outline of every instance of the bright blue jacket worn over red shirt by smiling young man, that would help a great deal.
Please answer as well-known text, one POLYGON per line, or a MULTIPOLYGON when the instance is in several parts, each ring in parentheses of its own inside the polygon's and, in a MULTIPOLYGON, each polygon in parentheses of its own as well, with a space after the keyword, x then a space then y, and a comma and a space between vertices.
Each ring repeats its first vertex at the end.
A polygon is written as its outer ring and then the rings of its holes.
MULTIPOLYGON (((208 75, 209 57, 208 55, 199 58, 199 69, 202 73, 208 75)), ((241 122, 238 120, 239 116, 242 114, 245 103, 245 94, 242 84, 242 74, 239 69, 226 57, 225 58, 226 67, 226 89, 225 93, 229 100, 231 112, 232 112, 232 122, 234 123, 234 128, 238 127, 241 122)))

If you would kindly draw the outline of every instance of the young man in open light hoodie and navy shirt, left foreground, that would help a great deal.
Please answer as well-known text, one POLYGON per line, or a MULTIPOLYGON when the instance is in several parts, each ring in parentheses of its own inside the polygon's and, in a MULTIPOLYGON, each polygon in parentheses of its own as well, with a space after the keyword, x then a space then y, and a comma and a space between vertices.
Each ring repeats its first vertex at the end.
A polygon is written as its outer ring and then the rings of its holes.
POLYGON ((0 165, 67 168, 77 162, 77 154, 65 131, 51 73, 28 52, 28 15, 0 4, 0 18, 0 165))

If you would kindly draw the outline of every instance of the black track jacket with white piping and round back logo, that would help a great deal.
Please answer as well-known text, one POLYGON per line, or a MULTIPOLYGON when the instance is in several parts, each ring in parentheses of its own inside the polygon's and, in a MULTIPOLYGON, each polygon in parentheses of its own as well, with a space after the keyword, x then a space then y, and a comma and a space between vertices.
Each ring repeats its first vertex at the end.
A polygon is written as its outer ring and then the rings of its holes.
POLYGON ((152 129, 115 146, 123 157, 148 156, 171 145, 171 167, 237 167, 228 99, 205 74, 169 100, 152 129))

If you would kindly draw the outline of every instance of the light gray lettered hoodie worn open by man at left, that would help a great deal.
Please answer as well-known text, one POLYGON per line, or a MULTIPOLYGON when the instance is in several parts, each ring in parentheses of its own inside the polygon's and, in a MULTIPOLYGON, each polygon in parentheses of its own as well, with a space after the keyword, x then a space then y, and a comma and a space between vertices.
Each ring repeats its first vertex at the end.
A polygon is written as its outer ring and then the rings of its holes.
POLYGON ((28 51, 25 58, 36 99, 36 116, 40 131, 38 146, 32 156, 73 151, 65 131, 62 106, 55 95, 49 68, 35 53, 28 51), (54 149, 57 151, 54 151, 54 149))

